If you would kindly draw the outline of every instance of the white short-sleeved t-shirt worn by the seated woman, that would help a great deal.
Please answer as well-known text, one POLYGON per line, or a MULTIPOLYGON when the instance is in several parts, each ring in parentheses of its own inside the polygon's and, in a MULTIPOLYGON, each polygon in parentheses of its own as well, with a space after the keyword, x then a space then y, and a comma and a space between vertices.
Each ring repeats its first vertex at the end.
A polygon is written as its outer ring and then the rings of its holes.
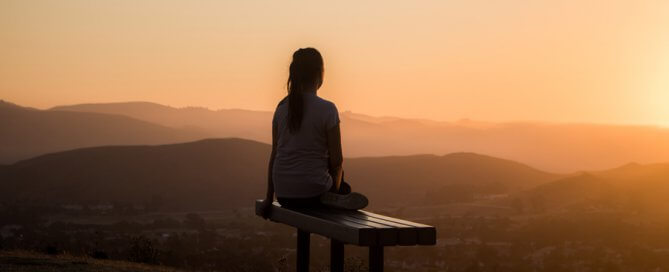
POLYGON ((279 103, 272 125, 277 128, 277 147, 272 180, 277 197, 318 196, 332 187, 327 131, 339 124, 334 103, 315 93, 303 93, 303 116, 299 131, 290 133, 288 99, 279 103))

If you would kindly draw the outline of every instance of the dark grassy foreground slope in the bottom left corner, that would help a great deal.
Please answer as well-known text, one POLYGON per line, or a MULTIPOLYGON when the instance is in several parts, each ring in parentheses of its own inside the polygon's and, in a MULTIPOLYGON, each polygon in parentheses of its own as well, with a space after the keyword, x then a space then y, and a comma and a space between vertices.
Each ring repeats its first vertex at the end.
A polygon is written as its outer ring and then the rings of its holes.
POLYGON ((3 272, 183 272, 174 268, 89 257, 46 255, 29 251, 0 251, 3 272))

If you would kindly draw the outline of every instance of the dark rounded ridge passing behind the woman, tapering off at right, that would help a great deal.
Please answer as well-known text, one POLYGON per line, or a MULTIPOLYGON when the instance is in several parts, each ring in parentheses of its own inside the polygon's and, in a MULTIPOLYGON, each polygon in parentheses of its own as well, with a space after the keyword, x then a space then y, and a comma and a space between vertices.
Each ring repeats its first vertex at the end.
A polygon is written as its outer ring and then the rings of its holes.
MULTIPOLYGON (((8 166, 0 177, 0 197, 170 209, 249 206, 264 194, 269 153, 269 145, 242 139, 77 149, 8 166)), ((427 192, 446 185, 494 183, 512 191, 558 177, 470 153, 347 159, 344 167, 346 180, 379 206, 422 203, 427 192)))

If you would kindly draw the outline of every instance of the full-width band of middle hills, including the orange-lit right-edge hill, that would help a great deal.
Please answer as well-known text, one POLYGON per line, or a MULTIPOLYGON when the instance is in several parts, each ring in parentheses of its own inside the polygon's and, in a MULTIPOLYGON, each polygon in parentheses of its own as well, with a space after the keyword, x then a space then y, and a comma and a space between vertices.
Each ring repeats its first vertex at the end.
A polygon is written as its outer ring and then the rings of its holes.
MULTIPOLYGON (((270 146, 227 138, 167 145, 102 146, 0 165, 0 199, 42 204, 161 203, 229 209, 264 195, 270 146)), ((508 195, 534 211, 669 209, 669 164, 627 164, 559 175, 475 153, 347 158, 345 179, 372 208, 508 195), (464 198, 463 198, 464 197, 464 198)))

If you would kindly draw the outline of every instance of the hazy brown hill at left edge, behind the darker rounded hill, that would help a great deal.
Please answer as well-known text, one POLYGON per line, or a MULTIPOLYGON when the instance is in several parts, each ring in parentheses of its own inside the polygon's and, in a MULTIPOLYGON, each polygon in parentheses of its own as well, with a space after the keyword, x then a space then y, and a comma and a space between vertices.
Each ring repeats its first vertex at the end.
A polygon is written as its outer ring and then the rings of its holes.
POLYGON ((121 115, 44 111, 0 101, 0 164, 41 154, 100 145, 165 144, 203 133, 121 115))

